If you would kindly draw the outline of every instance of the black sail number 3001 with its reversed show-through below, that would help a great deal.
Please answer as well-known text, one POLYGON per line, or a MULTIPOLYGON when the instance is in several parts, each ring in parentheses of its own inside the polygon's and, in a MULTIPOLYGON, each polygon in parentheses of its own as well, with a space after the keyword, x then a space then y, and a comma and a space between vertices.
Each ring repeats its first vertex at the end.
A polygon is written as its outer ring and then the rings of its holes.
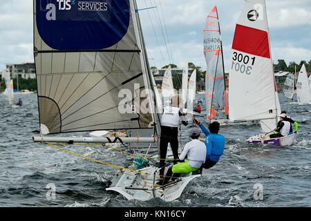
POLYGON ((249 58, 248 55, 238 54, 234 52, 234 57, 232 57, 232 66, 231 68, 242 73, 250 75, 252 74, 252 66, 255 64, 255 57, 249 58), (236 62, 238 61, 238 62, 236 62), (249 64, 250 63, 250 64, 249 64))

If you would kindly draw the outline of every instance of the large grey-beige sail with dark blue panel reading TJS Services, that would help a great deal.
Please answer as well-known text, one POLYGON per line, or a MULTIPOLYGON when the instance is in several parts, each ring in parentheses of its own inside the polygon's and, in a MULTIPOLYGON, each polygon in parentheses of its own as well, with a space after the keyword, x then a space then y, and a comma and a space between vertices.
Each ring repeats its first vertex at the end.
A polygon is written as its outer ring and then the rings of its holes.
POLYGON ((148 128, 153 122, 129 0, 35 0, 40 124, 49 133, 148 128))

